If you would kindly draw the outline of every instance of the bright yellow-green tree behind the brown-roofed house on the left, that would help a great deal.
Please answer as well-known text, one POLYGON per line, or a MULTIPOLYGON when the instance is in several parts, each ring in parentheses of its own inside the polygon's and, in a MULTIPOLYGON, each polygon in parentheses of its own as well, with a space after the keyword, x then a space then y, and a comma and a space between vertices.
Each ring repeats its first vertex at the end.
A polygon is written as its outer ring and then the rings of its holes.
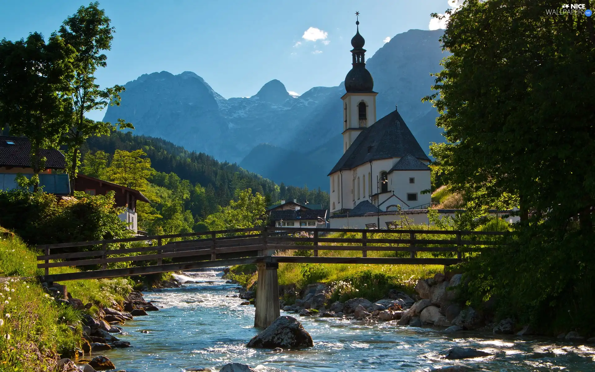
POLYGON ((151 168, 151 159, 143 158, 144 156, 146 154, 142 150, 131 152, 116 150, 105 174, 109 180, 118 185, 143 192, 148 187, 149 177, 155 173, 151 168))

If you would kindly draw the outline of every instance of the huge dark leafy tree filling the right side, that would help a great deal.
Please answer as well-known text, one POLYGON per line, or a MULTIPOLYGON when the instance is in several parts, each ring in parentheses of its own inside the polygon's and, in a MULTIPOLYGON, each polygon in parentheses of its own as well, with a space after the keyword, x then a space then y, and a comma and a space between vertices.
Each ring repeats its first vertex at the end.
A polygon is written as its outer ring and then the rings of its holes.
POLYGON ((587 334, 595 30, 592 17, 561 5, 467 0, 451 15, 441 42, 452 55, 436 74, 440 96, 430 97, 448 143, 431 154, 466 209, 520 208, 518 239, 466 267, 475 304, 494 296, 505 299, 501 315, 587 334))

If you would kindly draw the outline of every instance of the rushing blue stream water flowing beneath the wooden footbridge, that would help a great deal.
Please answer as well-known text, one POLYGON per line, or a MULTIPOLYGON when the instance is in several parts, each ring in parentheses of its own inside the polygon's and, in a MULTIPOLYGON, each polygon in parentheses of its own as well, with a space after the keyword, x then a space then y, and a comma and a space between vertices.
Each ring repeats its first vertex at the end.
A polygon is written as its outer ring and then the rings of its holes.
MULTIPOLYGON (((145 293, 161 308, 135 317, 117 335, 134 347, 104 352, 118 370, 178 371, 240 362, 262 371, 421 371, 466 365, 480 371, 595 371, 595 348, 581 343, 535 337, 497 337, 467 332, 401 327, 393 322, 366 323, 338 318, 299 317, 314 339, 314 348, 273 352, 248 349, 256 335, 254 307, 240 305, 236 285, 220 271, 193 271, 178 276, 195 280, 162 292, 145 293), (441 351, 469 346, 494 357, 444 361, 441 351), (556 357, 533 359, 533 352, 552 351, 556 357)), ((283 315, 284 312, 281 312, 283 315)), ((296 314, 287 314, 296 315, 296 314)))

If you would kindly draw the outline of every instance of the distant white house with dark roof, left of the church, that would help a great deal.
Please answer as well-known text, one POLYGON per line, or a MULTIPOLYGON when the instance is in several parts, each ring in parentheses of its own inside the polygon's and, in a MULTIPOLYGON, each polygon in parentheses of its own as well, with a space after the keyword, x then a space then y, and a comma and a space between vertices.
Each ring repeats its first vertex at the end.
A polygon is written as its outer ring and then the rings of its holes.
POLYGON ((299 204, 296 199, 268 208, 269 220, 276 227, 316 227, 324 228, 327 224, 327 210, 320 204, 299 204))

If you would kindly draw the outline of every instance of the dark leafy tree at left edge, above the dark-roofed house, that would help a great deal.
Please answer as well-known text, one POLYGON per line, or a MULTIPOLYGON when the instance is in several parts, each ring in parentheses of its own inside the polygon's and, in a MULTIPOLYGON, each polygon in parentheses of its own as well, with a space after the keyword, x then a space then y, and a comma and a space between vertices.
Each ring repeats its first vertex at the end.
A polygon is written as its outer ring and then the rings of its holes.
POLYGON ((67 129, 75 54, 56 34, 47 43, 40 33, 0 41, 0 123, 29 138, 35 174, 45 168, 43 149, 57 148, 67 129))

